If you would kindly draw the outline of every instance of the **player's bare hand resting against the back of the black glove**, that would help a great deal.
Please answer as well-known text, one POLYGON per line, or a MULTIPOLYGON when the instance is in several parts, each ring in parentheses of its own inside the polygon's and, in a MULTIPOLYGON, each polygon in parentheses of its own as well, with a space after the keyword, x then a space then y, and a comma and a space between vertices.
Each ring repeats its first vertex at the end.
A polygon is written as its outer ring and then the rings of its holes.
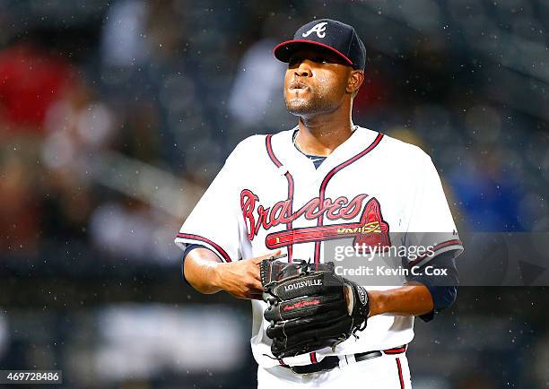
POLYGON ((281 250, 258 256, 257 258, 243 259, 229 264, 216 266, 217 284, 235 298, 261 299, 263 285, 259 275, 259 264, 273 255, 280 255, 281 250))

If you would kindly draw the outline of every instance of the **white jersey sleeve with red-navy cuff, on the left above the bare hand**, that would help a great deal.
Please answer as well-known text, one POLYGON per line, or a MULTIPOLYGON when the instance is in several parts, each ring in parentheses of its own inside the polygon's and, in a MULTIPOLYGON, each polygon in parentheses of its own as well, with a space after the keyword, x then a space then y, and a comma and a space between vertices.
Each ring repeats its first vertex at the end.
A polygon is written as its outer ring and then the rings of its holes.
POLYGON ((223 262, 241 258, 243 219, 238 197, 238 149, 232 151, 224 166, 213 179, 195 209, 183 223, 175 243, 185 250, 187 245, 202 245, 223 262))

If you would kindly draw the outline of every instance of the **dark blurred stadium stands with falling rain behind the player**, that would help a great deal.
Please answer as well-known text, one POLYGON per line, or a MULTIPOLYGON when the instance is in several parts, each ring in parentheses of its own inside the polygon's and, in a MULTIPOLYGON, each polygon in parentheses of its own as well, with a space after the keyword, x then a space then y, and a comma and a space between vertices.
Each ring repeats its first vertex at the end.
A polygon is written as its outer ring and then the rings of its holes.
MULTIPOLYGON (((354 123, 431 154, 460 231, 549 229, 549 3, 272 3, 0 0, 1 369, 256 385, 249 303, 189 288, 173 238, 236 143, 295 125, 271 49, 313 18, 358 31, 354 123)), ((549 387, 546 292, 461 288, 414 388, 549 387)))

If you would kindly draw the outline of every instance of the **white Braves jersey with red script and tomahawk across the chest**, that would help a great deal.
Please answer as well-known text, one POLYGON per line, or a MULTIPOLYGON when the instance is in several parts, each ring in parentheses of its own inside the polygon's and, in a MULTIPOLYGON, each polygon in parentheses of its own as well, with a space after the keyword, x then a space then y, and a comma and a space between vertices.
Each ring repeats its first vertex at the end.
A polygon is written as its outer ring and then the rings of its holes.
MULTIPOLYGON (((323 262, 327 239, 374 223, 380 235, 389 229, 448 234, 438 242, 422 242, 433 246, 423 263, 445 251, 463 250, 439 175, 421 149, 355 126, 352 136, 315 169, 294 147, 294 131, 241 142, 181 227, 176 243, 182 248, 204 245, 224 262, 275 248, 287 253, 288 260, 323 262)), ((281 361, 274 359, 266 336, 266 303, 252 300, 252 308, 251 346, 257 363, 277 366, 281 361)), ((351 337, 335 350, 318 350, 315 358, 403 345, 412 341, 413 325, 413 316, 373 316, 358 339, 351 337)), ((311 359, 302 355, 282 363, 306 365, 311 359)))

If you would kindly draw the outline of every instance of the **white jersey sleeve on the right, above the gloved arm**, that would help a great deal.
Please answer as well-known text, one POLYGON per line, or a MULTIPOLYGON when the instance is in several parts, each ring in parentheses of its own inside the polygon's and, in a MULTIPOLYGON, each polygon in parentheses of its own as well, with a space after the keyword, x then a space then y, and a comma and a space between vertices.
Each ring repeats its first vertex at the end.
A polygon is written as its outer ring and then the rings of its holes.
POLYGON ((422 266, 442 253, 457 257, 463 245, 457 234, 440 177, 431 158, 421 151, 404 244, 409 265, 422 266))

